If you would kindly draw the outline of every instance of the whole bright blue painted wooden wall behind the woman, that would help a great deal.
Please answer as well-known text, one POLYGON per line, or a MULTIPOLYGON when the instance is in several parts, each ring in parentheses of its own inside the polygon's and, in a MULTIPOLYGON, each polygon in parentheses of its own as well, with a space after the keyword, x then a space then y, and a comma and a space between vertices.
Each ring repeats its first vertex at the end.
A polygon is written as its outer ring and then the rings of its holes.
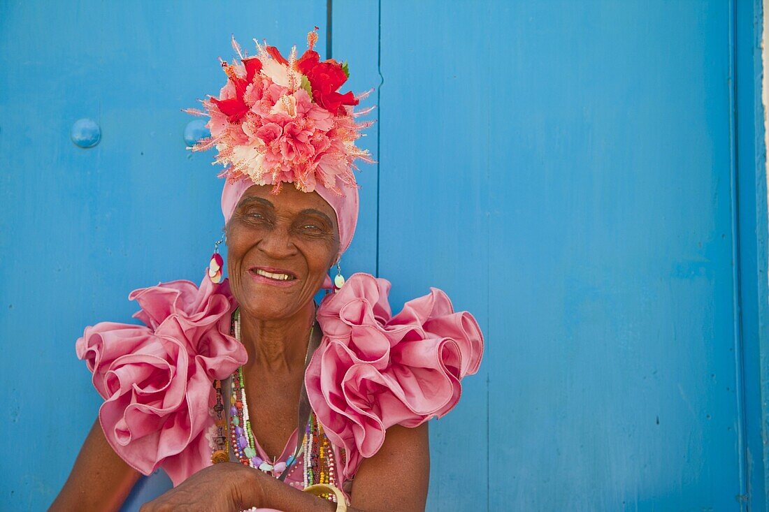
POLYGON ((343 270, 395 308, 443 288, 487 335, 428 509, 767 509, 757 5, 0 2, 0 507, 47 506, 95 418, 82 328, 201 278, 221 181, 180 109, 231 34, 318 25, 377 88, 343 270))

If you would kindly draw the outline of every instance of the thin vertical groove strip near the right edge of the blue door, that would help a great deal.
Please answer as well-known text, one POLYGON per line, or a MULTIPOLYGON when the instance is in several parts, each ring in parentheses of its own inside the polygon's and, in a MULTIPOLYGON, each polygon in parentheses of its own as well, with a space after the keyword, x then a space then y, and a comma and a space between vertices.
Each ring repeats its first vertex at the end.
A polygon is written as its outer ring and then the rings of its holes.
POLYGON ((740 287, 740 232, 739 232, 739 197, 737 194, 737 6, 734 0, 729 2, 729 154, 731 188, 731 232, 732 232, 732 318, 734 332, 734 387, 737 395, 737 464, 740 479, 740 510, 747 510, 747 457, 745 457, 745 407, 744 407, 744 369, 742 347, 742 304, 740 287))

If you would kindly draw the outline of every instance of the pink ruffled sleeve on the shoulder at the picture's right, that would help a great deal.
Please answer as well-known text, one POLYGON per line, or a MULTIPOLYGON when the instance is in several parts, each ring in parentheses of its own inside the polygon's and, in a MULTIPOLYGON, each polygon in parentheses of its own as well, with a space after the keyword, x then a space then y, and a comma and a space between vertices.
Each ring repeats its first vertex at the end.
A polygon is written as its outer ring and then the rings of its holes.
POLYGON ((318 308, 323 340, 305 385, 329 440, 345 450, 345 478, 379 450, 388 427, 417 427, 451 411, 461 379, 481 364, 483 334, 471 314, 454 312, 431 288, 392 316, 390 286, 353 274, 318 308))

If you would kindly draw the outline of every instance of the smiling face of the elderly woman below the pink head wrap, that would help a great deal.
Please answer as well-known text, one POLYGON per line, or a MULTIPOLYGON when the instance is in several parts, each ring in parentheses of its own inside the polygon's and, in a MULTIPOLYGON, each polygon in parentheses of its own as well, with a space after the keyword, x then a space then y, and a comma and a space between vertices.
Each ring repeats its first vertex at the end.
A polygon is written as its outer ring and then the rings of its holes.
POLYGON ((260 320, 291 317, 311 301, 339 251, 331 205, 290 185, 271 189, 248 188, 226 227, 232 294, 260 320))

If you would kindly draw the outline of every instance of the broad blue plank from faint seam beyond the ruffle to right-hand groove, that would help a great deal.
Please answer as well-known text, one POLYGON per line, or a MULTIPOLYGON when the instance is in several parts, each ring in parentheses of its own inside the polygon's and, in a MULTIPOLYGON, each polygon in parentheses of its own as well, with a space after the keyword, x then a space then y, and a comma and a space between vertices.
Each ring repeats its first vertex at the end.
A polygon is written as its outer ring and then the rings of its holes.
POLYGON ((491 197, 509 249, 491 253, 491 335, 520 354, 490 361, 491 437, 511 439, 492 509, 738 508, 727 8, 491 22, 516 35, 489 71, 510 84, 491 160, 511 182, 491 197))

